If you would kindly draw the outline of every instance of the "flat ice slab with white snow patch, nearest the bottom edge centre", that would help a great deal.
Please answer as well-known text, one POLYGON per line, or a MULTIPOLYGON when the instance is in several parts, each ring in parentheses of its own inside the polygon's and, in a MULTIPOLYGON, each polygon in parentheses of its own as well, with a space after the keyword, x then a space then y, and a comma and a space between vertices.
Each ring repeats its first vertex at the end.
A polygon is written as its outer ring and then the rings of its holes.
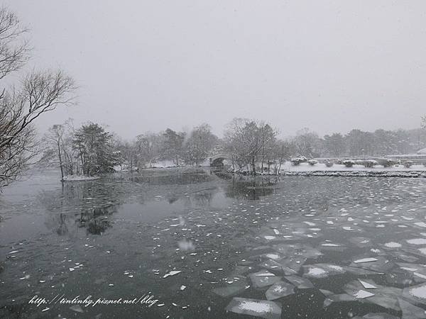
POLYGON ((226 306, 226 310, 233 313, 253 315, 255 317, 268 319, 281 318, 281 306, 279 303, 274 301, 234 297, 229 305, 226 306))

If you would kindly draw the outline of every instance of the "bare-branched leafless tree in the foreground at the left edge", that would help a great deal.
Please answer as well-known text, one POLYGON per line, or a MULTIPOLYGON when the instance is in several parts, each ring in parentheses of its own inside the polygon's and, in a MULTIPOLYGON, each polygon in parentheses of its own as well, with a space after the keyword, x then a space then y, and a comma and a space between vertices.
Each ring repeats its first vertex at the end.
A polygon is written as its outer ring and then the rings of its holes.
MULTIPOLYGON (((0 9, 0 80, 28 60, 28 41, 15 13, 0 9)), ((56 106, 72 102, 75 84, 62 71, 31 72, 0 94, 0 187, 15 181, 37 159, 33 123, 56 106)))

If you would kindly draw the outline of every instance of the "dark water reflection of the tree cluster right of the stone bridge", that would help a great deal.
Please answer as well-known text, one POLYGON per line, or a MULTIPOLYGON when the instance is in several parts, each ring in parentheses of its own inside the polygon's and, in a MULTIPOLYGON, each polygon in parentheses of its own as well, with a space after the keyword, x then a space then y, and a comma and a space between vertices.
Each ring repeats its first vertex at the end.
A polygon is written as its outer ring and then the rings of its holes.
POLYGON ((225 194, 231 198, 247 198, 256 200, 261 196, 273 194, 273 186, 277 184, 276 177, 263 177, 261 179, 253 177, 236 177, 226 186, 225 194))

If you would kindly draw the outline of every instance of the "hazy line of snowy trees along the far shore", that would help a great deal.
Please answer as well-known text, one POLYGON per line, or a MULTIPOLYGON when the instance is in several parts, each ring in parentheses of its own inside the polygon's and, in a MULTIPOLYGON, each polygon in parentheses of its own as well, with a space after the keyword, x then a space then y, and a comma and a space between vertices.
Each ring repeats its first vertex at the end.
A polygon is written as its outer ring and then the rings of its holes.
POLYGON ((234 169, 273 169, 292 157, 383 157, 416 152, 426 147, 426 131, 375 130, 333 133, 320 137, 304 128, 289 138, 278 138, 278 130, 263 121, 234 118, 218 138, 204 123, 189 132, 166 128, 123 140, 97 123, 74 128, 72 121, 53 125, 43 138, 43 160, 58 164, 62 177, 72 174, 93 176, 113 172, 121 165, 131 171, 155 167, 160 161, 173 166, 198 166, 224 153, 234 169))

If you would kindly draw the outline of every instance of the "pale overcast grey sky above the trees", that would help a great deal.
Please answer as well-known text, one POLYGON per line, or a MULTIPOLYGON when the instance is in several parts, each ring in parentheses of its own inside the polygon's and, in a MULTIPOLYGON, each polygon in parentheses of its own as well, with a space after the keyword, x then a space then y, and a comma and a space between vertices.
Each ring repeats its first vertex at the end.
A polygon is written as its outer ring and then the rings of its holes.
POLYGON ((417 128, 426 113, 426 1, 9 0, 31 66, 61 67, 78 105, 40 119, 124 138, 234 117, 282 135, 417 128))

